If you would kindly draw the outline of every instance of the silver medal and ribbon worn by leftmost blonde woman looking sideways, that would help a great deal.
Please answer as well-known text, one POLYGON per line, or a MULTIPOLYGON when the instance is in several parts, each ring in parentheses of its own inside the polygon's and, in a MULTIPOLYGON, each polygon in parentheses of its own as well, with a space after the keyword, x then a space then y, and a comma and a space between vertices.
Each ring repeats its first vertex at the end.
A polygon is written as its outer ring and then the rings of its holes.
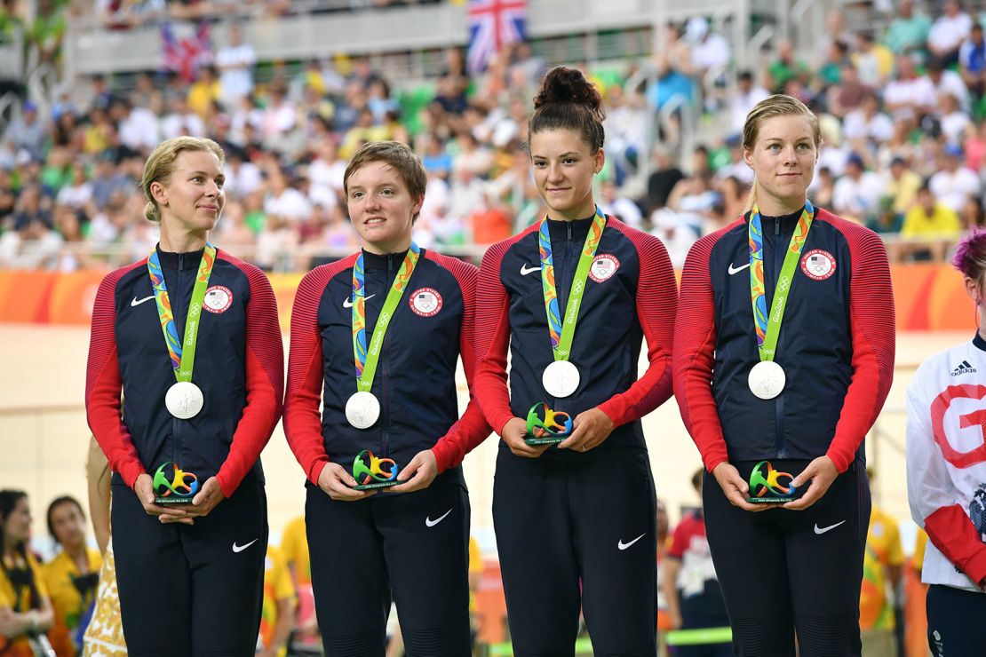
POLYGON ((168 412, 179 420, 188 420, 198 415, 205 403, 202 391, 191 382, 192 368, 195 365, 195 347, 198 344, 198 327, 202 317, 202 301, 209 287, 209 277, 216 263, 216 247, 206 242, 202 251, 202 259, 198 263, 198 273, 195 285, 191 290, 191 301, 185 315, 184 338, 178 337, 175 325, 175 313, 172 310, 172 300, 168 296, 168 286, 165 284, 165 273, 161 269, 161 258, 158 249, 151 251, 147 258, 147 271, 151 276, 151 287, 154 289, 154 300, 158 307, 158 318, 161 320, 161 331, 165 336, 165 346, 172 358, 175 369, 176 383, 168 389, 165 395, 165 406, 168 412))

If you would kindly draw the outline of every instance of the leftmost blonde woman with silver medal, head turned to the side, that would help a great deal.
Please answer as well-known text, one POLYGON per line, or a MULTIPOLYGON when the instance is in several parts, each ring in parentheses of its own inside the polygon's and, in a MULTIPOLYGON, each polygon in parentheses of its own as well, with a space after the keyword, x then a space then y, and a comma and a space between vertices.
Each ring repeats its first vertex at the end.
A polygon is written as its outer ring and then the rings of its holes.
POLYGON ((281 415, 270 283, 209 243, 223 151, 176 137, 144 165, 147 258, 93 308, 89 426, 113 472, 112 546, 130 654, 252 654, 267 543, 260 450, 281 415), (121 401, 122 400, 122 401, 121 401))

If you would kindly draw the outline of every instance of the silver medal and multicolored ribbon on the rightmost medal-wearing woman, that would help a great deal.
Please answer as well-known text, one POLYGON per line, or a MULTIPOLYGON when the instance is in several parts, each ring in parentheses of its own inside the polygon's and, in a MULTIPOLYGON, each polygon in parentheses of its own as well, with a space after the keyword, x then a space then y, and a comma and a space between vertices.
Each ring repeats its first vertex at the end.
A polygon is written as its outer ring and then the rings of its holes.
POLYGON ((781 394, 787 377, 783 367, 774 361, 777 354, 777 341, 784 321, 784 309, 794 284, 795 270, 801 258, 808 231, 814 217, 814 208, 805 201, 805 208, 798 218, 798 226, 791 235, 781 265, 781 275, 774 287, 774 298, 767 314, 767 292, 763 277, 763 226, 760 209, 753 206, 749 218, 749 295, 753 304, 753 322, 756 328, 756 347, 760 361, 750 369, 747 384, 750 392, 760 399, 773 399, 781 394))

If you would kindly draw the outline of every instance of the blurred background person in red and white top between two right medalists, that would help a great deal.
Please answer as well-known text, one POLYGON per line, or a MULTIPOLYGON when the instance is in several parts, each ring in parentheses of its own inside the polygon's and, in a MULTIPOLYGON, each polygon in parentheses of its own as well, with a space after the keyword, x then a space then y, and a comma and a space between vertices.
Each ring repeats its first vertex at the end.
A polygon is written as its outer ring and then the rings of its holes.
MULTIPOLYGON (((702 470, 691 478, 691 485, 702 498, 702 470)), ((662 580, 668 615, 674 629, 728 627, 729 615, 719 590, 716 567, 705 538, 705 519, 701 504, 685 514, 674 528, 664 560, 662 580)), ((677 646, 676 657, 732 657, 730 643, 677 646)))

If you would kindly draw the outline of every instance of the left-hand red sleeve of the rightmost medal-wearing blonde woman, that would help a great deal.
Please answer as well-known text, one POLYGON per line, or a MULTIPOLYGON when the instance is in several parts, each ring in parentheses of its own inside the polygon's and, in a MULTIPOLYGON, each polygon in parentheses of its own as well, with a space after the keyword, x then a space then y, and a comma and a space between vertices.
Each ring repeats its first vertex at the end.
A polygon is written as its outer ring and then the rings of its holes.
POLYGON ((695 441, 702 463, 709 472, 729 460, 716 400, 712 397, 716 307, 709 277, 709 258, 712 247, 733 226, 702 237, 688 251, 681 271, 681 294, 674 327, 674 397, 684 427, 695 441))

